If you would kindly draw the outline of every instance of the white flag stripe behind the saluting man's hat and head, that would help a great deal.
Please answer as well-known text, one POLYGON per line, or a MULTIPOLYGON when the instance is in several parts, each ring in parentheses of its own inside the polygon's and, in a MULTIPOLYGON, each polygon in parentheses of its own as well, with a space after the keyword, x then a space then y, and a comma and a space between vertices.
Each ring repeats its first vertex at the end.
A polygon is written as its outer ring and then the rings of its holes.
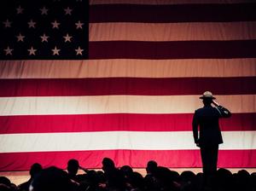
MULTIPOLYGON (((231 113, 256 113, 256 95, 216 96, 231 113)), ((194 113, 198 96, 0 97, 0 116, 96 113, 194 113)))

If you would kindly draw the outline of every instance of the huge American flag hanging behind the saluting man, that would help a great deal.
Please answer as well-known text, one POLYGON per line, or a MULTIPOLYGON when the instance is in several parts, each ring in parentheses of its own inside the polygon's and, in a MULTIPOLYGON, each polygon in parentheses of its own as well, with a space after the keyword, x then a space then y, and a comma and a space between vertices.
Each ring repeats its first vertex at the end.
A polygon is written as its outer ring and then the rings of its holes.
POLYGON ((6 2, 1 171, 103 157, 200 167, 191 123, 205 90, 233 113, 218 166, 256 166, 253 1, 6 2))

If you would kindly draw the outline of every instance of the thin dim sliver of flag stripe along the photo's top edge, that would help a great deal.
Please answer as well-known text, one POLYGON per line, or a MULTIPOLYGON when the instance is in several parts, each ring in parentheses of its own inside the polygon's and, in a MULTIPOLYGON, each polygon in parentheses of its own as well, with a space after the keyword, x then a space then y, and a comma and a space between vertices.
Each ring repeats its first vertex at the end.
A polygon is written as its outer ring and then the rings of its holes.
POLYGON ((208 4, 254 3, 253 0, 90 0, 90 4, 208 4))

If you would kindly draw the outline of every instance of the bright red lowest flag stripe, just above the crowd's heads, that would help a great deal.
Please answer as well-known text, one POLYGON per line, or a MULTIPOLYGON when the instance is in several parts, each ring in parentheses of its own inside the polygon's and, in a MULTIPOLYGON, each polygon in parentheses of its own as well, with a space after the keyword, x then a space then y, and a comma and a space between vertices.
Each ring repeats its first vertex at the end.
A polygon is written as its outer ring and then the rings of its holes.
MULTIPOLYGON (((0 153, 0 171, 29 170, 33 163, 40 163, 44 167, 56 165, 67 167, 68 159, 78 159, 79 164, 86 168, 101 168, 102 159, 109 157, 117 166, 131 165, 131 167, 145 167, 148 160, 154 159, 158 165, 166 167, 201 167, 199 150, 102 150, 102 151, 74 151, 74 152, 39 152, 39 153, 0 153), (54 162, 53 162, 54 161, 54 162)), ((256 150, 220 150, 218 167, 256 166, 256 150)))

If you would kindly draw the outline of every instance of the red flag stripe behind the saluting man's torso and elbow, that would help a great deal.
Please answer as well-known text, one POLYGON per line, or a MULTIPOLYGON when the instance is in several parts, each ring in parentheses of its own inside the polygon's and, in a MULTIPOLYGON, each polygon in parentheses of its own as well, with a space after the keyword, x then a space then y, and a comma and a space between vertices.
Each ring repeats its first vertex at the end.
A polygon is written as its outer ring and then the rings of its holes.
MULTIPOLYGON (((88 114, 1 116, 0 134, 109 130, 192 130, 193 114, 88 114)), ((256 130, 256 113, 234 113, 220 120, 221 130, 256 130)))

